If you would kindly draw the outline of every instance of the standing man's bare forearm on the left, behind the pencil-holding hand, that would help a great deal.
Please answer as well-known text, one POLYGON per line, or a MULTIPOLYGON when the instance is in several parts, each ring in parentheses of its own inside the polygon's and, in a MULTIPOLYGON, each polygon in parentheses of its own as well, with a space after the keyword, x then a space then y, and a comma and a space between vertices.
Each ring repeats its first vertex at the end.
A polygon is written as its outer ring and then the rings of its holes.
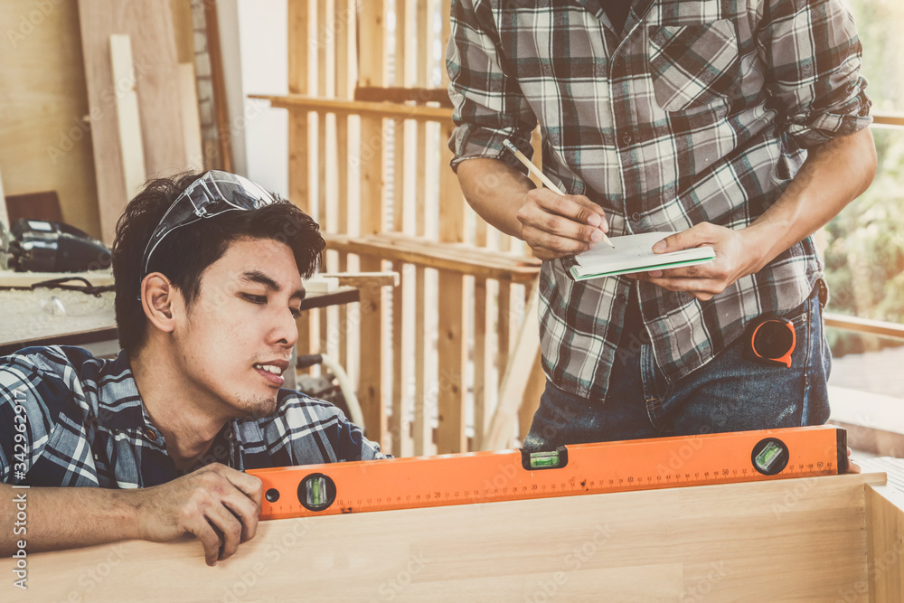
POLYGON ((524 195, 534 188, 531 180, 499 159, 468 159, 458 165, 458 183, 467 203, 487 223, 513 237, 522 238, 518 211, 524 195))

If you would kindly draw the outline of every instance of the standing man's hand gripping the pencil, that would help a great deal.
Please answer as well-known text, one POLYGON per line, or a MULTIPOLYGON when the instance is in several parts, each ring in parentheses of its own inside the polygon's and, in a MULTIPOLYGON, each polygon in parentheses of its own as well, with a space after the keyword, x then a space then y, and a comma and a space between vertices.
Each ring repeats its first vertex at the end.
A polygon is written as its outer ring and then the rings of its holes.
POLYGON ((560 195, 535 188, 517 214, 521 238, 540 259, 556 259, 587 251, 609 230, 602 208, 578 194, 560 195))

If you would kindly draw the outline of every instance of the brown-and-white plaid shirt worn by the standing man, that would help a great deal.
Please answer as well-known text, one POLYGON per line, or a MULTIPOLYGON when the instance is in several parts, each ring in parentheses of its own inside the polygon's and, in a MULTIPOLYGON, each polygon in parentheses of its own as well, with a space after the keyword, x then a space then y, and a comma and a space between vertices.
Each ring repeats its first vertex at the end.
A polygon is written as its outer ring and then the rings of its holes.
MULTIPOLYGON (((606 212, 610 235, 742 229, 790 184, 806 149, 871 123, 861 44, 840 0, 639 0, 623 35, 587 0, 453 0, 447 51, 457 125, 453 169, 530 156, 606 212)), ((523 168, 522 168, 523 169, 523 168)), ((628 278, 575 283, 541 269, 543 368, 604 399, 631 287, 654 358, 672 383, 764 312, 801 304, 823 276, 803 240, 702 302, 628 278)))

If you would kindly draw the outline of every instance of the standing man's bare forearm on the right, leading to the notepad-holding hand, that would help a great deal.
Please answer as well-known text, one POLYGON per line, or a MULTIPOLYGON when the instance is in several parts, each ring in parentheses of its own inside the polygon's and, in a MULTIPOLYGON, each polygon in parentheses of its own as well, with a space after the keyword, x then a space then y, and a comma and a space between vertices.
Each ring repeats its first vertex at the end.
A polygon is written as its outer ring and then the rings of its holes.
POLYGON ((793 182, 744 234, 761 250, 758 269, 838 215, 871 184, 876 147, 869 128, 811 149, 793 182))

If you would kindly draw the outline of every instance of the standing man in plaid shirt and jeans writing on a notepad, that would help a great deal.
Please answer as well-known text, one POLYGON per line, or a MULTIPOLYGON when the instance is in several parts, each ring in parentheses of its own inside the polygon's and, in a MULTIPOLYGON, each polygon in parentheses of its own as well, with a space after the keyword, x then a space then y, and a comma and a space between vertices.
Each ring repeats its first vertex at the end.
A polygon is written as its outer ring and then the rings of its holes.
POLYGON ((453 0, 452 168, 478 214, 546 260, 526 447, 828 419, 811 235, 875 174, 861 51, 841 0, 453 0), (504 151, 530 156, 538 122, 565 196, 504 151), (673 231, 655 252, 716 259, 570 280, 555 260, 600 231, 673 231), (742 335, 768 313, 794 330, 790 367, 749 357, 742 335))

